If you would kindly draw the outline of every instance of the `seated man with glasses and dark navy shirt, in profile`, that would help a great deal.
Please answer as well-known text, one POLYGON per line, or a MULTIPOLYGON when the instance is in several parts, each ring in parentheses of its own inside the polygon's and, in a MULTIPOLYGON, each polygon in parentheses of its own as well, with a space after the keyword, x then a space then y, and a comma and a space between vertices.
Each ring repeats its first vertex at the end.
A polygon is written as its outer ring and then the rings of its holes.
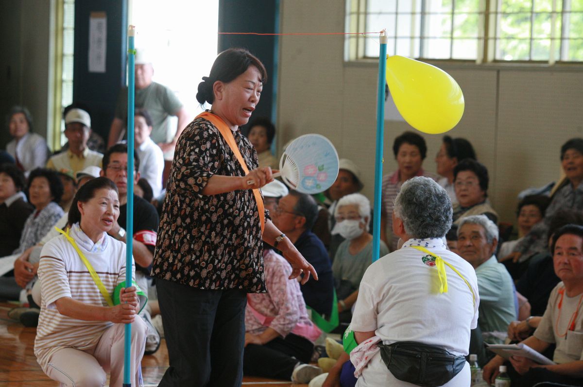
MULTIPOLYGON (((283 238, 289 238, 300 254, 316 269, 318 280, 301 285, 301 293, 308 307, 329 319, 332 314, 334 280, 324 243, 310 231, 317 216, 318 205, 314 198, 305 193, 290 191, 279 199, 272 219, 273 224, 284 233, 276 238, 276 244, 283 238)), ((277 248, 277 245, 273 247, 277 248)))

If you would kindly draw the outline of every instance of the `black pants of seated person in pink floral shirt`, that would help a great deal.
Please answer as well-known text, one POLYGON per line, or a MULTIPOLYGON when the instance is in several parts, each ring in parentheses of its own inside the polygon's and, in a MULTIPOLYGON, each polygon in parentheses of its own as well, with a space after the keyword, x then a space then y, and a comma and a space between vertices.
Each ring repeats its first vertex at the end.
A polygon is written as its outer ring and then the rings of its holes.
POLYGON ((310 363, 314 344, 305 337, 290 333, 276 337, 262 346, 248 344, 243 356, 243 372, 255 377, 290 380, 298 363, 310 363))

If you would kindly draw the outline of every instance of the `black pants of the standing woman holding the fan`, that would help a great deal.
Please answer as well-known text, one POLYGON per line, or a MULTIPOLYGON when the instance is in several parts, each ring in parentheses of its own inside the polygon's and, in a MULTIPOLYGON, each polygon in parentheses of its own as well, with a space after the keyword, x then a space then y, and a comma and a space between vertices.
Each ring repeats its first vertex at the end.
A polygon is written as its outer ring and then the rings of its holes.
POLYGON ((159 386, 240 386, 247 293, 160 279, 156 289, 170 360, 159 386))

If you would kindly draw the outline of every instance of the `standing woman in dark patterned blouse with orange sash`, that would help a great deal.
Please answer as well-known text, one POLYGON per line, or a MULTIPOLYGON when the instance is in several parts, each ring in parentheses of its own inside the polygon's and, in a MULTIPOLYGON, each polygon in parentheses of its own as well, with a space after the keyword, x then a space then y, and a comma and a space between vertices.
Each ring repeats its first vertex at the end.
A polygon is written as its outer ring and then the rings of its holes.
POLYGON ((317 279, 269 212, 259 213, 254 190, 273 181, 272 171, 258 168, 238 129, 265 80, 264 65, 247 50, 219 54, 196 94, 212 109, 178 139, 152 268, 170 358, 160 386, 241 385, 247 293, 266 291, 262 241, 283 251, 290 278, 317 279), (249 173, 227 143, 231 136, 249 173))

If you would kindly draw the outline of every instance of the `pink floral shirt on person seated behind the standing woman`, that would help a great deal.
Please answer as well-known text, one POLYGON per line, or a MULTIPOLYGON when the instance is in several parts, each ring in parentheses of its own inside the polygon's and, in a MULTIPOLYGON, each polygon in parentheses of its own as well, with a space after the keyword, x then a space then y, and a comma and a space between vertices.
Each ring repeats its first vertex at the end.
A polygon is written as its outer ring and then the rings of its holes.
MULTIPOLYGON (((291 275, 289 263, 273 250, 265 250, 264 265, 267 293, 247 294, 245 331, 261 335, 268 328, 262 325, 250 307, 265 317, 273 318, 268 324, 269 328, 276 330, 283 337, 288 333, 296 333, 294 328, 298 323, 312 325, 305 308, 300 283, 296 279, 288 279, 291 275)), ((296 334, 303 336, 300 333, 296 334)))

